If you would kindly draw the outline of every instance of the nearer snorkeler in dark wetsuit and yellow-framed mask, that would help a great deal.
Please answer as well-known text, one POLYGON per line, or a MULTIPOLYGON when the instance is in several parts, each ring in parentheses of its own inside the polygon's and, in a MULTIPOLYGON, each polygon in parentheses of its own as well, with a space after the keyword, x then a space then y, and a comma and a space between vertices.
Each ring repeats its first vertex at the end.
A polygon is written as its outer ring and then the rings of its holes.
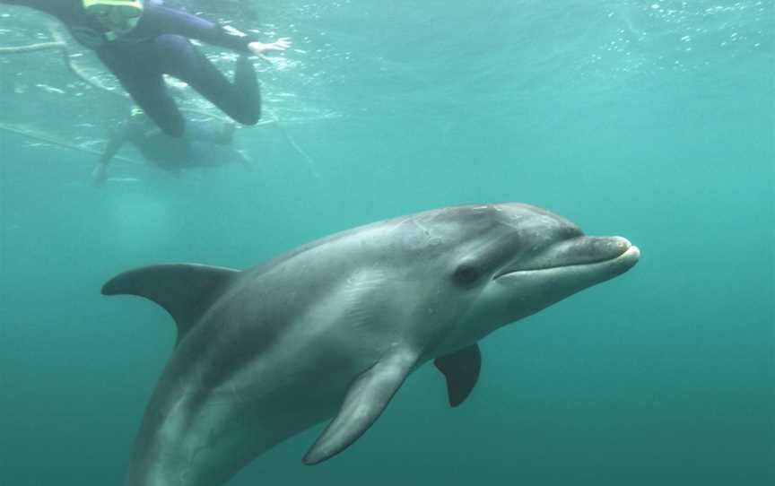
POLYGON ((291 46, 287 38, 264 44, 231 26, 167 8, 161 0, 0 0, 28 6, 64 22, 73 37, 93 49, 135 103, 167 135, 181 136, 185 120, 163 74, 187 82, 235 121, 256 125, 261 94, 248 55, 268 60, 269 51, 291 46), (234 82, 189 39, 241 53, 234 82))

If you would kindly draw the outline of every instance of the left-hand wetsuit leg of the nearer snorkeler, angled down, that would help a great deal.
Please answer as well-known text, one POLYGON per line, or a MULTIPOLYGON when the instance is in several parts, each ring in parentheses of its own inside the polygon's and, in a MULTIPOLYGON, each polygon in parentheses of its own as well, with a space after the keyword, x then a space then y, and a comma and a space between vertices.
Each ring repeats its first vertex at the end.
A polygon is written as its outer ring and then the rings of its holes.
POLYGON ((165 134, 183 135, 186 122, 167 90, 160 66, 152 56, 122 56, 103 51, 98 51, 97 55, 116 75, 135 103, 165 134))

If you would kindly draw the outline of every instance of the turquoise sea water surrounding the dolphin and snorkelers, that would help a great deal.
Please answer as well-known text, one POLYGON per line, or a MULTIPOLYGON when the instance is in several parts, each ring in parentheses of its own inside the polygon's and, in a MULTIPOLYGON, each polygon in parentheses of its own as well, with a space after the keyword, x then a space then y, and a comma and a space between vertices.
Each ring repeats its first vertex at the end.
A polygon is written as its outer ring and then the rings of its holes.
MULTIPOLYGON (((0 131, 0 483, 121 482, 174 325, 101 297, 114 274, 507 200, 641 261, 484 340, 459 409, 426 366, 344 454, 302 466, 316 428, 230 484, 775 482, 771 2, 250 4, 235 25, 294 39, 261 68, 277 122, 236 135, 254 171, 117 161, 92 187, 94 155, 29 135, 99 149, 126 102, 55 52, 0 56, 0 123, 27 134, 0 131)), ((0 43, 49 39, 42 19, 0 7, 0 43)))

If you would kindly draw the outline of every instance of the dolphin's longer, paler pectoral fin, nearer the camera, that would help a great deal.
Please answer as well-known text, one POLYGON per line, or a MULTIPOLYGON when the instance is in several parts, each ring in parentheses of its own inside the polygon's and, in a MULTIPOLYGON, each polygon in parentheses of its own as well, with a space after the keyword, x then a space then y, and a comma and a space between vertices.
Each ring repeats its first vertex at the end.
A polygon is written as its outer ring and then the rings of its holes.
POLYGON ((414 367, 417 356, 404 353, 380 360, 347 390, 344 404, 309 448, 304 464, 318 464, 342 452, 370 428, 414 367))

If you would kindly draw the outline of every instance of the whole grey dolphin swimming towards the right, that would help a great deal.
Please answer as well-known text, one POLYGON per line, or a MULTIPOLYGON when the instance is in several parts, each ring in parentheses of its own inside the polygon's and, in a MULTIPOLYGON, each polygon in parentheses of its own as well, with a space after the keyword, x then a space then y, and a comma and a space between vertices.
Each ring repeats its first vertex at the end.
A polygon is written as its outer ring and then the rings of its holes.
POLYGON ((222 484, 333 417, 303 458, 317 464, 361 437, 429 360, 457 406, 479 376, 479 340, 639 256, 627 239, 588 237, 562 216, 505 203, 379 221, 242 272, 121 273, 103 294, 151 299, 178 325, 126 485, 222 484))

